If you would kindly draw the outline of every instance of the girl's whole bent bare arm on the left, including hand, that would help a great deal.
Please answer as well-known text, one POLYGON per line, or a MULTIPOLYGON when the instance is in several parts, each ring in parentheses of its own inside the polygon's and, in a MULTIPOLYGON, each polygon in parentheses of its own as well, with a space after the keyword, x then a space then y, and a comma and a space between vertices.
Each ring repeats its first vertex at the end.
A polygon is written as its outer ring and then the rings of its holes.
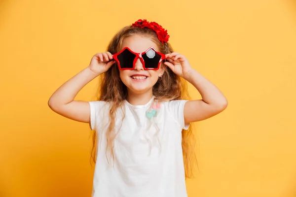
POLYGON ((78 92, 91 80, 106 72, 114 61, 111 53, 98 53, 93 56, 88 67, 59 87, 48 100, 48 106, 56 113, 75 121, 90 122, 90 106, 87 101, 74 100, 78 92))

